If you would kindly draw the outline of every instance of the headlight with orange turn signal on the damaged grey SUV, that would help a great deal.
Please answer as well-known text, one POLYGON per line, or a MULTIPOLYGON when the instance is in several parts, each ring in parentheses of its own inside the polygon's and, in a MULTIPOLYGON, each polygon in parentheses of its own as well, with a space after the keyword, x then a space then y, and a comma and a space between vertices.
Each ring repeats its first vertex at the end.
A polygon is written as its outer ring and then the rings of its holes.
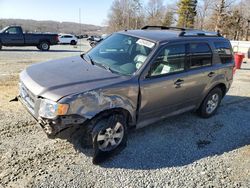
POLYGON ((58 115, 65 115, 68 109, 68 104, 60 104, 48 99, 42 99, 40 103, 39 116, 44 118, 55 118, 58 115))

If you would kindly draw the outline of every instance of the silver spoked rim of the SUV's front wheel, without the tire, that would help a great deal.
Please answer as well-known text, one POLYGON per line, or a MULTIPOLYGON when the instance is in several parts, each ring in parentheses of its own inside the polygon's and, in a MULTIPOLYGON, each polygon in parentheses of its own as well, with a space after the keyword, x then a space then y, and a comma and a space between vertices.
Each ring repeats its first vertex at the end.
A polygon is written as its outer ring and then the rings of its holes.
POLYGON ((97 135, 98 148, 102 151, 110 151, 116 148, 124 136, 124 127, 120 122, 111 128, 102 130, 97 135))

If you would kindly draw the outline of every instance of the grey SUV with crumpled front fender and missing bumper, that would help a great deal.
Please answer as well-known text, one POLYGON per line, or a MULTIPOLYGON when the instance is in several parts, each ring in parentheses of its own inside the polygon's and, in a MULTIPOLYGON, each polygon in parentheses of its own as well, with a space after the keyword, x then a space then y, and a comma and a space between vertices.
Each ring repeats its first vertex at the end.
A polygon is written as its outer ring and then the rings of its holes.
POLYGON ((233 67, 219 33, 146 26, 114 33, 81 56, 28 67, 19 99, 50 136, 79 127, 98 162, 126 145, 128 128, 191 110, 214 115, 233 67))

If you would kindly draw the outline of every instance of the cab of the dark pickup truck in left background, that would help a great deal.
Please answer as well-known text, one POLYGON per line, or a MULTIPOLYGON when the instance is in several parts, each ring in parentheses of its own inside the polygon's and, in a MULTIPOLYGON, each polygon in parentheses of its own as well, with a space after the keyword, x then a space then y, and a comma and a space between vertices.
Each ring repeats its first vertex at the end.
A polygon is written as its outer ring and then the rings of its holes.
POLYGON ((10 27, 3 33, 2 42, 5 45, 23 45, 24 38, 22 30, 19 27, 10 27))

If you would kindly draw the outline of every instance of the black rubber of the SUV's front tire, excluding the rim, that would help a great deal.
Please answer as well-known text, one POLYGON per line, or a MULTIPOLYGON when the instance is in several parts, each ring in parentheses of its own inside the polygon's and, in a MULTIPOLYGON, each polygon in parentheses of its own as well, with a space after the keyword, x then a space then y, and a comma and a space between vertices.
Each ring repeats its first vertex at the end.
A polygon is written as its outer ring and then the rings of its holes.
POLYGON ((127 123, 126 118, 123 115, 112 115, 105 119, 98 121, 92 131, 92 140, 94 148, 93 163, 98 164, 112 155, 119 153, 127 145, 127 123), (109 127, 114 127, 117 122, 120 122, 124 128, 124 136, 121 143, 111 151, 102 151, 98 148, 97 135, 100 131, 105 130, 109 127))

